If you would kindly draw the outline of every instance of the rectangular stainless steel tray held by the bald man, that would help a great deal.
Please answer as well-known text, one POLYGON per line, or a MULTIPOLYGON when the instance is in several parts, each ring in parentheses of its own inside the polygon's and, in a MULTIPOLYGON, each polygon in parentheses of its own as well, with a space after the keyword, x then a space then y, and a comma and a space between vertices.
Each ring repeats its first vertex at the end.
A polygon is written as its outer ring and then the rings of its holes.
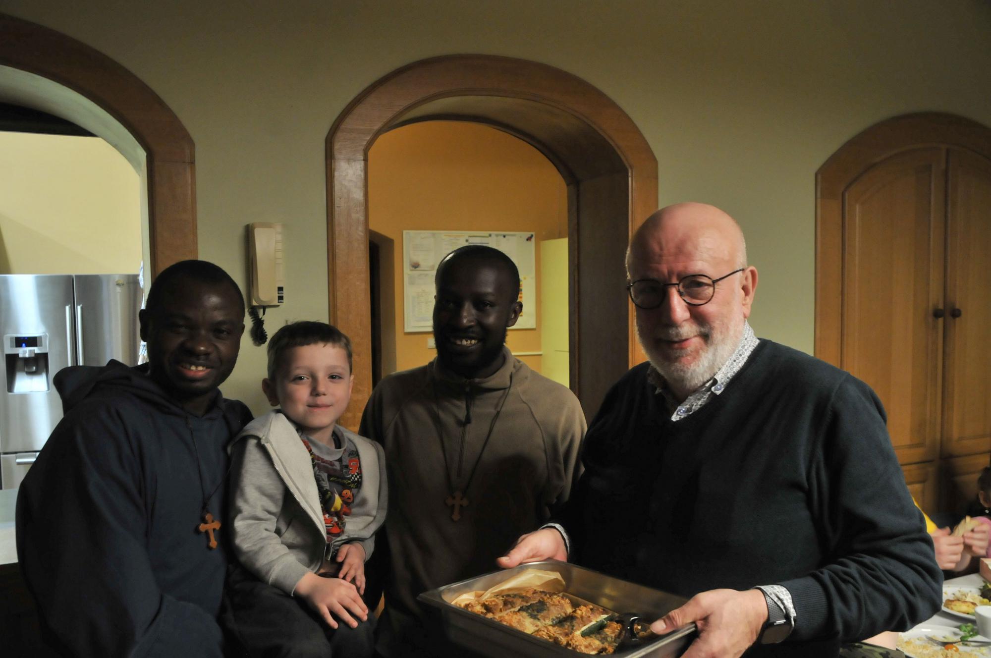
MULTIPOLYGON (((637 612, 651 620, 664 616, 686 601, 682 597, 651 590, 642 585, 627 583, 591 569, 556 560, 533 562, 505 571, 496 571, 485 576, 424 592, 418 598, 421 602, 440 610, 444 631, 448 639, 468 647, 476 653, 491 658, 504 658, 505 656, 576 658, 583 655, 552 642, 531 637, 520 630, 505 626, 495 619, 469 612, 451 603, 468 592, 485 592, 507 578, 527 569, 555 571, 564 578, 565 592, 568 594, 590 603, 602 605, 613 612, 637 612)), ((658 637, 652 642, 613 655, 623 658, 680 656, 695 639, 695 636, 695 624, 691 624, 658 637)))

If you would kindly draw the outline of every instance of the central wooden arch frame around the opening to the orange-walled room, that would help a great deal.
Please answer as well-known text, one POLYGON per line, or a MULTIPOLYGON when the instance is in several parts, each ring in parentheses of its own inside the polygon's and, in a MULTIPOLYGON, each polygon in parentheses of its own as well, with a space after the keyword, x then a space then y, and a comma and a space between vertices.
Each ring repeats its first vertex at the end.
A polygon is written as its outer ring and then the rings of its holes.
POLYGON ((491 125, 533 145, 568 186, 571 387, 586 414, 643 360, 623 293, 630 232, 656 208, 657 161, 606 94, 546 64, 495 55, 423 59, 359 94, 327 134, 330 318, 351 335, 356 382, 344 422, 371 393, 368 152, 388 130, 431 119, 491 125))

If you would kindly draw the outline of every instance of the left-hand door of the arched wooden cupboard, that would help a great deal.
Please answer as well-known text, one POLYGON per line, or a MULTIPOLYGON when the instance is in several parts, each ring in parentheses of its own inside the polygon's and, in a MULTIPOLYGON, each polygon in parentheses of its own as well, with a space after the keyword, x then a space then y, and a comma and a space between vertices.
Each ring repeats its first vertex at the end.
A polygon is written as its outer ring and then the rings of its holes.
POLYGON ((936 458, 945 151, 869 168, 843 194, 840 367, 870 384, 904 463, 936 458))

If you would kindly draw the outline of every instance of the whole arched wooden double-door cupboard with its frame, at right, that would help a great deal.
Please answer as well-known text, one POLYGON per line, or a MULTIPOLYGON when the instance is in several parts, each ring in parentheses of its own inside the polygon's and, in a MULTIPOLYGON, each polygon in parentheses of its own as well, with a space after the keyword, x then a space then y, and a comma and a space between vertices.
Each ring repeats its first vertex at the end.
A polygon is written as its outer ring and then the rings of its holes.
POLYGON ((895 117, 816 180, 816 356, 878 393, 923 507, 962 513, 991 458, 991 129, 895 117))

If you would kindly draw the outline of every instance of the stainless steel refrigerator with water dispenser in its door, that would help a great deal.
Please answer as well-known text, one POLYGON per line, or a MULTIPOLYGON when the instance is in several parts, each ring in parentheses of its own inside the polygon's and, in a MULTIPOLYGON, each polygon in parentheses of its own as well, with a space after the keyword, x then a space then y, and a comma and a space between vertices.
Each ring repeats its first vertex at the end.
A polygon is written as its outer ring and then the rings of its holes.
POLYGON ((0 274, 0 488, 16 489, 58 420, 66 366, 137 365, 138 274, 0 274))

